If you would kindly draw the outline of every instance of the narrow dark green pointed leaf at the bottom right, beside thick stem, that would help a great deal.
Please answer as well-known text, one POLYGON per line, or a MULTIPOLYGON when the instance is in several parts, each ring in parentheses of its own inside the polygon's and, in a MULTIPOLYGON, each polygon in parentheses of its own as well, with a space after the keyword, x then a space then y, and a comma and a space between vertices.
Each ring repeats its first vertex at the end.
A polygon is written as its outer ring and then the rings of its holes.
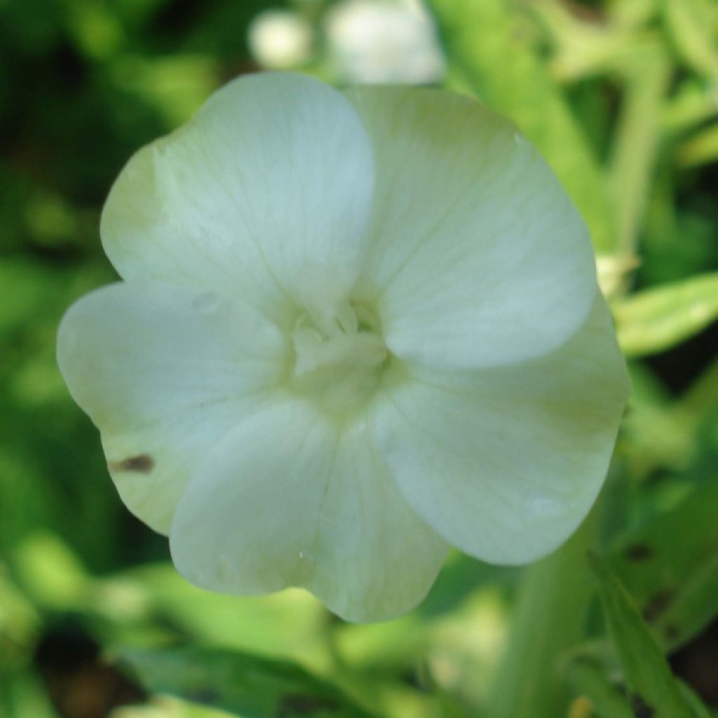
POLYGON ((634 709, 641 707, 655 718, 692 718, 679 684, 633 599, 604 559, 592 555, 590 561, 634 709))

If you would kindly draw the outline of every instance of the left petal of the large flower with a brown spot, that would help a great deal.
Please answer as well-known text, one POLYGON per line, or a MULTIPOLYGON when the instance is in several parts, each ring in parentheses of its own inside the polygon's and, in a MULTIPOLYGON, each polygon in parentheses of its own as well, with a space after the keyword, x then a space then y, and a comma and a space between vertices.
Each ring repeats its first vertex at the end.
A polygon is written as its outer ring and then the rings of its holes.
POLYGON ((121 498, 161 533, 209 447, 283 376, 287 351, 255 310, 159 284, 88 294, 57 338, 62 376, 102 432, 121 498))

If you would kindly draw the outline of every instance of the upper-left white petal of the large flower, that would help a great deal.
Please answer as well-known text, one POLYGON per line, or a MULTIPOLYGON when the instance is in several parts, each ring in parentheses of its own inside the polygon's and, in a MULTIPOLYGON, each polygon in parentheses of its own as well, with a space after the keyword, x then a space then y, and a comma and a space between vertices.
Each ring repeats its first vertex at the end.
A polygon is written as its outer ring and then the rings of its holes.
POLYGON ((348 291, 373 182, 368 138, 340 93, 303 75, 246 75, 130 159, 103 245, 123 279, 241 291, 276 319, 317 274, 348 291))

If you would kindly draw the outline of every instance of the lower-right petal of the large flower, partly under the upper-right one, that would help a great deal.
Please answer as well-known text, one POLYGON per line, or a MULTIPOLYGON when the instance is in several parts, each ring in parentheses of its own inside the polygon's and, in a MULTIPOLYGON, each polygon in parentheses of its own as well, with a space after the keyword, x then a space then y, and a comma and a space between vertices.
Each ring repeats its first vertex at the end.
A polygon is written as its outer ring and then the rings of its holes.
POLYGON ((559 546, 605 478, 628 375, 603 299, 549 355, 413 376, 374 417, 378 447, 417 512, 449 543, 499 564, 559 546))

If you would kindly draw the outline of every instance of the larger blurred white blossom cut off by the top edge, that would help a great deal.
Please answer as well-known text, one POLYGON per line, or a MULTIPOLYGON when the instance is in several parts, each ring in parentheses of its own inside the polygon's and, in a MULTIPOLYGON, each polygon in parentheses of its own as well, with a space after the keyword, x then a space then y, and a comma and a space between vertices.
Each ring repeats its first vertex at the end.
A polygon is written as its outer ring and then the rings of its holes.
POLYGON ((327 17, 335 69, 353 83, 432 83, 444 58, 426 10, 416 0, 345 0, 327 17))

